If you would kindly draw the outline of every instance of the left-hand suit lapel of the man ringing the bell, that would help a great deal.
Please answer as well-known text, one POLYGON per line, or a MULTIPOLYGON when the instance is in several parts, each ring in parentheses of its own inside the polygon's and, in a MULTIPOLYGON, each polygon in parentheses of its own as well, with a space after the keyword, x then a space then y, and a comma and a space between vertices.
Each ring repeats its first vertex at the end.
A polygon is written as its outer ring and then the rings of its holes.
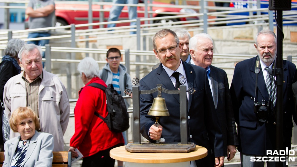
MULTIPOLYGON (((157 77, 162 83, 162 87, 166 88, 168 90, 175 90, 175 87, 173 83, 171 82, 171 79, 169 78, 168 74, 164 70, 163 66, 158 67, 157 74, 159 74, 157 77)), ((157 87, 157 85, 155 85, 157 87)), ((171 94, 178 102, 179 102, 179 94, 171 94)))

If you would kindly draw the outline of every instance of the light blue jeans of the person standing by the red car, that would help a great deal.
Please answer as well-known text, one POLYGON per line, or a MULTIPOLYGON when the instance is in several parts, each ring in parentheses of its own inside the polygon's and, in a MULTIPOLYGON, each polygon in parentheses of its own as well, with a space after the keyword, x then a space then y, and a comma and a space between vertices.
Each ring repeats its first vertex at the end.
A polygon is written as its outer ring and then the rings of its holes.
MULTIPOLYGON (((113 3, 122 3, 122 4, 137 4, 138 0, 113 0, 113 3)), ((124 6, 112 6, 109 12, 108 21, 117 21, 118 16, 121 14, 122 9, 124 6)), ((137 18, 137 7, 136 6, 128 6, 128 15, 129 19, 136 19, 137 18)), ((130 25, 136 25, 136 22, 130 22, 130 25)), ((115 24, 108 24, 108 28, 115 27, 115 24)), ((134 29, 134 28, 130 28, 134 29)), ((113 30, 108 30, 113 31, 113 30)), ((130 34, 136 34, 135 31, 130 32, 130 34)))

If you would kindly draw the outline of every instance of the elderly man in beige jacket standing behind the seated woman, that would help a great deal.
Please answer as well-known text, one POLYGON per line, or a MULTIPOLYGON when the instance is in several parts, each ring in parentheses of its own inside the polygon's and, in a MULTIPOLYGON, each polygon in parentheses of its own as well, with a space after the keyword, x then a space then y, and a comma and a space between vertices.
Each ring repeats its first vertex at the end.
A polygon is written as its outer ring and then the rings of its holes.
MULTIPOLYGON (((8 118, 19 106, 32 108, 40 120, 40 131, 54 136, 54 151, 64 151, 69 100, 60 79, 42 68, 41 53, 41 47, 34 44, 24 45, 19 51, 24 71, 5 84, 4 107, 8 118)), ((18 135, 11 131, 10 139, 18 135)))

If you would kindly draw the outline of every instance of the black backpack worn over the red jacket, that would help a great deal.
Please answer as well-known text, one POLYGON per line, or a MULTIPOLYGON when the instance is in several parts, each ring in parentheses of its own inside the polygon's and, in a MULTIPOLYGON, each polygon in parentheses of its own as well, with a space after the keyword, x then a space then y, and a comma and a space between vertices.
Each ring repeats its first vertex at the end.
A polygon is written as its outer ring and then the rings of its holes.
POLYGON ((88 86, 99 88, 106 94, 107 116, 103 118, 96 111, 94 114, 107 124, 110 131, 126 131, 129 128, 129 115, 123 96, 119 95, 118 92, 114 90, 112 84, 109 84, 107 88, 99 83, 90 83, 88 86))

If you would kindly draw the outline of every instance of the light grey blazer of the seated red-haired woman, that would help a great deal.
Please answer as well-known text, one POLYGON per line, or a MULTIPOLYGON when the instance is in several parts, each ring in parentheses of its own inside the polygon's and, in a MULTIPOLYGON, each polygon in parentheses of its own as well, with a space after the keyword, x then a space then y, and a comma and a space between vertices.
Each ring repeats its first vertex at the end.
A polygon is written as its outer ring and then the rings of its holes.
MULTIPOLYGON (((11 166, 11 161, 18 146, 20 137, 7 140, 4 144, 5 159, 3 166, 11 166)), ((49 133, 40 133, 35 131, 28 146, 24 159, 24 167, 50 167, 53 162, 54 138, 49 133)))

